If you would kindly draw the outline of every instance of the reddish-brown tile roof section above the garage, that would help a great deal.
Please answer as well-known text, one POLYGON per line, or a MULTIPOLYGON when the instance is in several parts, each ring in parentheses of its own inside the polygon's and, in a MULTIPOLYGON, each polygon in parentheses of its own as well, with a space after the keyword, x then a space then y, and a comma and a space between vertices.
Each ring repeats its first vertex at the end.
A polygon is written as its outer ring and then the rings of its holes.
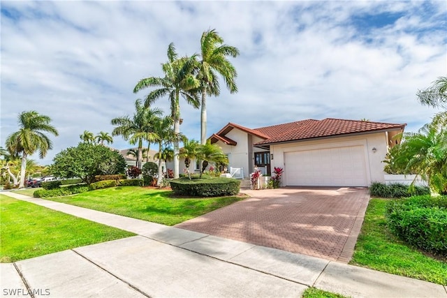
MULTIPOLYGON (((297 122, 293 123, 296 124, 297 122)), ((336 135, 346 135, 351 133, 369 133, 373 131, 386 131, 396 129, 403 130, 406 126, 406 124, 390 124, 383 122, 345 120, 334 118, 326 118, 320 121, 309 119, 298 121, 298 123, 300 124, 295 128, 293 128, 291 124, 280 124, 274 129, 272 128, 273 126, 259 128, 263 131, 268 131, 270 129, 270 131, 283 131, 283 133, 272 135, 272 137, 261 142, 257 142, 255 145, 290 142, 295 140, 307 140, 316 137, 332 137, 336 135)))

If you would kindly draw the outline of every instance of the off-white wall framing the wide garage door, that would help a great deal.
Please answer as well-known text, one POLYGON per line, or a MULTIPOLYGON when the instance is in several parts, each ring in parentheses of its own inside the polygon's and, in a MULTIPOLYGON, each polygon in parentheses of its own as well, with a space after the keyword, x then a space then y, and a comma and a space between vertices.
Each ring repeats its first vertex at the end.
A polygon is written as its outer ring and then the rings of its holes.
POLYGON ((387 153, 385 132, 270 145, 270 154, 273 154, 273 159, 270 163, 272 169, 273 167, 284 168, 284 178, 282 179, 284 183, 287 175, 287 165, 284 164, 284 154, 286 152, 354 145, 364 145, 368 184, 371 184, 373 181, 384 182, 383 175, 386 173, 383 172, 384 164, 382 161, 385 159, 387 153), (373 152, 372 148, 376 148, 376 152, 373 152))

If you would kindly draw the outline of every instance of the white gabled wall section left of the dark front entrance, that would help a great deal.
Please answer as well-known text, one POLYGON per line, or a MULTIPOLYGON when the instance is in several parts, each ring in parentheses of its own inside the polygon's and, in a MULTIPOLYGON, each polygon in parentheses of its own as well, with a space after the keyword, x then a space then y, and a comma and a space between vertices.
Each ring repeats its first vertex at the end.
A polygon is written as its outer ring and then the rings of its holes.
POLYGON ((233 128, 233 130, 226 134, 226 137, 237 142, 236 146, 230 146, 221 141, 216 143, 222 148, 224 154, 228 154, 228 166, 242 167, 244 169, 244 177, 249 177, 249 144, 247 133, 233 128))

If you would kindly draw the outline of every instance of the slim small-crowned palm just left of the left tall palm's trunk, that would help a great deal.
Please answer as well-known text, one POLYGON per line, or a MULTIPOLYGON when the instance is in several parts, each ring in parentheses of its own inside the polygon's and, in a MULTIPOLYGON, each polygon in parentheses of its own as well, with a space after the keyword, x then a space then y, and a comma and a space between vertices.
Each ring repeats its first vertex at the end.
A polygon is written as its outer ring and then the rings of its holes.
MULTIPOLYGON (((154 133, 155 133, 154 142, 159 144, 159 152, 155 154, 154 158, 157 158, 156 156, 163 157, 163 147, 166 146, 166 144, 172 142, 172 140, 177 139, 177 135, 175 135, 173 130, 172 117, 156 118, 154 120, 154 133)), ((161 161, 163 158, 158 159, 159 159, 159 173, 158 173, 159 178, 156 181, 156 186, 160 186, 161 180, 163 179, 163 170, 161 168, 161 161)))

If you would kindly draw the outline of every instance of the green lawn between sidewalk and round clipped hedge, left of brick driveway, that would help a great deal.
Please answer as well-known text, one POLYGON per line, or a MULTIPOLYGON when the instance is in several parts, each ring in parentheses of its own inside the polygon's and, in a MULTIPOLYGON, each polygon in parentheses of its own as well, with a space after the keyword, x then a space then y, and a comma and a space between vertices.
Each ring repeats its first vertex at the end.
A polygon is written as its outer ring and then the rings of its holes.
POLYGON ((172 198, 173 192, 139 186, 103 188, 78 195, 47 198, 112 214, 176 225, 242 198, 172 198))

